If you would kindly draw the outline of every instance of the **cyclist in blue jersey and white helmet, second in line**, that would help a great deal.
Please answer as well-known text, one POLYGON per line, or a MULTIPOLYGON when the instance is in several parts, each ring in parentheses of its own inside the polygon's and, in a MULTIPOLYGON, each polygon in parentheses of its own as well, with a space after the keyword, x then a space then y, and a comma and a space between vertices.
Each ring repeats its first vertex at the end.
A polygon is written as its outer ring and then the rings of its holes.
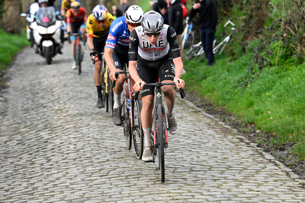
POLYGON ((122 124, 122 104, 120 98, 125 77, 119 75, 116 79, 114 73, 117 71, 124 71, 124 64, 126 63, 128 65, 129 33, 131 33, 135 27, 141 25, 143 14, 144 12, 139 6, 130 6, 125 12, 125 16, 113 20, 106 40, 104 59, 110 69, 109 78, 117 81, 115 88, 113 88, 114 104, 112 114, 113 123, 117 126, 122 124))

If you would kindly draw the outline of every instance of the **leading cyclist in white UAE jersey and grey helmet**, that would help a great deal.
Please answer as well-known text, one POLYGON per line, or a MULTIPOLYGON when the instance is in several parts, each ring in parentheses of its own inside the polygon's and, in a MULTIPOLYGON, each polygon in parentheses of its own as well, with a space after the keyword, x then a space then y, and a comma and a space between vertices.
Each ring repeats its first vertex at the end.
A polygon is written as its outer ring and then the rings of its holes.
MULTIPOLYGON (((129 36, 129 73, 135 81, 134 89, 140 91, 143 107, 141 121, 145 136, 145 149, 142 160, 152 160, 152 143, 150 134, 152 128, 152 110, 154 104, 154 87, 144 83, 154 83, 157 77, 161 82, 173 82, 177 88, 185 86, 180 79, 183 64, 180 48, 174 28, 164 25, 162 16, 149 11, 143 15, 142 26, 136 27, 129 36)), ((174 113, 176 92, 174 86, 162 86, 167 104, 168 131, 176 134, 178 123, 174 113)))

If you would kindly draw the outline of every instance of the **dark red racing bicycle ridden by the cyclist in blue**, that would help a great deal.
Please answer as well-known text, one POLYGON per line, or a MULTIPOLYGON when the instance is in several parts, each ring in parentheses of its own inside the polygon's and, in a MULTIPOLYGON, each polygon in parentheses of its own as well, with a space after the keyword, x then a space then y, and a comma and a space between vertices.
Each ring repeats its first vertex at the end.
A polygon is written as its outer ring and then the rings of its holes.
MULTIPOLYGON (((142 159, 143 155, 143 139, 144 133, 141 122, 141 110, 142 100, 135 99, 134 81, 126 71, 126 65, 124 65, 124 71, 115 72, 117 78, 119 74, 125 76, 125 86, 122 92, 122 126, 124 127, 124 136, 127 145, 127 149, 131 149, 131 137, 133 139, 135 154, 138 159, 142 159), (128 76, 127 76, 128 74, 128 76)), ((115 87, 116 81, 113 81, 113 88, 115 87)))

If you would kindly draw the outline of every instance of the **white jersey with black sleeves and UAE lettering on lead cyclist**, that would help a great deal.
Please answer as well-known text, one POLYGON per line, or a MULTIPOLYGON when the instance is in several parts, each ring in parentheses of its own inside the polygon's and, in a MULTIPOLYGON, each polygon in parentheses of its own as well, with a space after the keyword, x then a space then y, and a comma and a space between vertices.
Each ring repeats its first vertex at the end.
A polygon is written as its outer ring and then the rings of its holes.
POLYGON ((169 25, 164 24, 155 45, 150 44, 146 39, 142 26, 136 27, 130 33, 129 61, 137 61, 138 54, 148 61, 156 61, 163 58, 169 51, 171 51, 173 58, 180 57, 176 32, 169 25))

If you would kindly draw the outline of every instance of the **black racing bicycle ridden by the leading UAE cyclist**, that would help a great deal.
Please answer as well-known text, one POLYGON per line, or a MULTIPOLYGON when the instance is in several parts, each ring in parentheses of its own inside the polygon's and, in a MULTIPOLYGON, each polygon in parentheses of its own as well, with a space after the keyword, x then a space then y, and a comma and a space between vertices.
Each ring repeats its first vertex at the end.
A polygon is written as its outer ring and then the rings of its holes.
MULTIPOLYGON (((164 148, 168 147, 168 136, 167 136, 167 118, 165 109, 162 103, 162 90, 163 85, 176 85, 174 82, 156 82, 156 83, 145 83, 144 86, 155 86, 156 87, 156 103, 153 109, 153 122, 152 129, 153 135, 151 135, 152 141, 152 162, 155 163, 155 156, 158 156, 158 164, 160 169, 161 182, 165 181, 165 165, 164 165, 164 148)), ((182 88, 179 89, 180 96, 185 99, 185 94, 182 88)), ((139 92, 135 93, 134 101, 137 101, 139 92)))

